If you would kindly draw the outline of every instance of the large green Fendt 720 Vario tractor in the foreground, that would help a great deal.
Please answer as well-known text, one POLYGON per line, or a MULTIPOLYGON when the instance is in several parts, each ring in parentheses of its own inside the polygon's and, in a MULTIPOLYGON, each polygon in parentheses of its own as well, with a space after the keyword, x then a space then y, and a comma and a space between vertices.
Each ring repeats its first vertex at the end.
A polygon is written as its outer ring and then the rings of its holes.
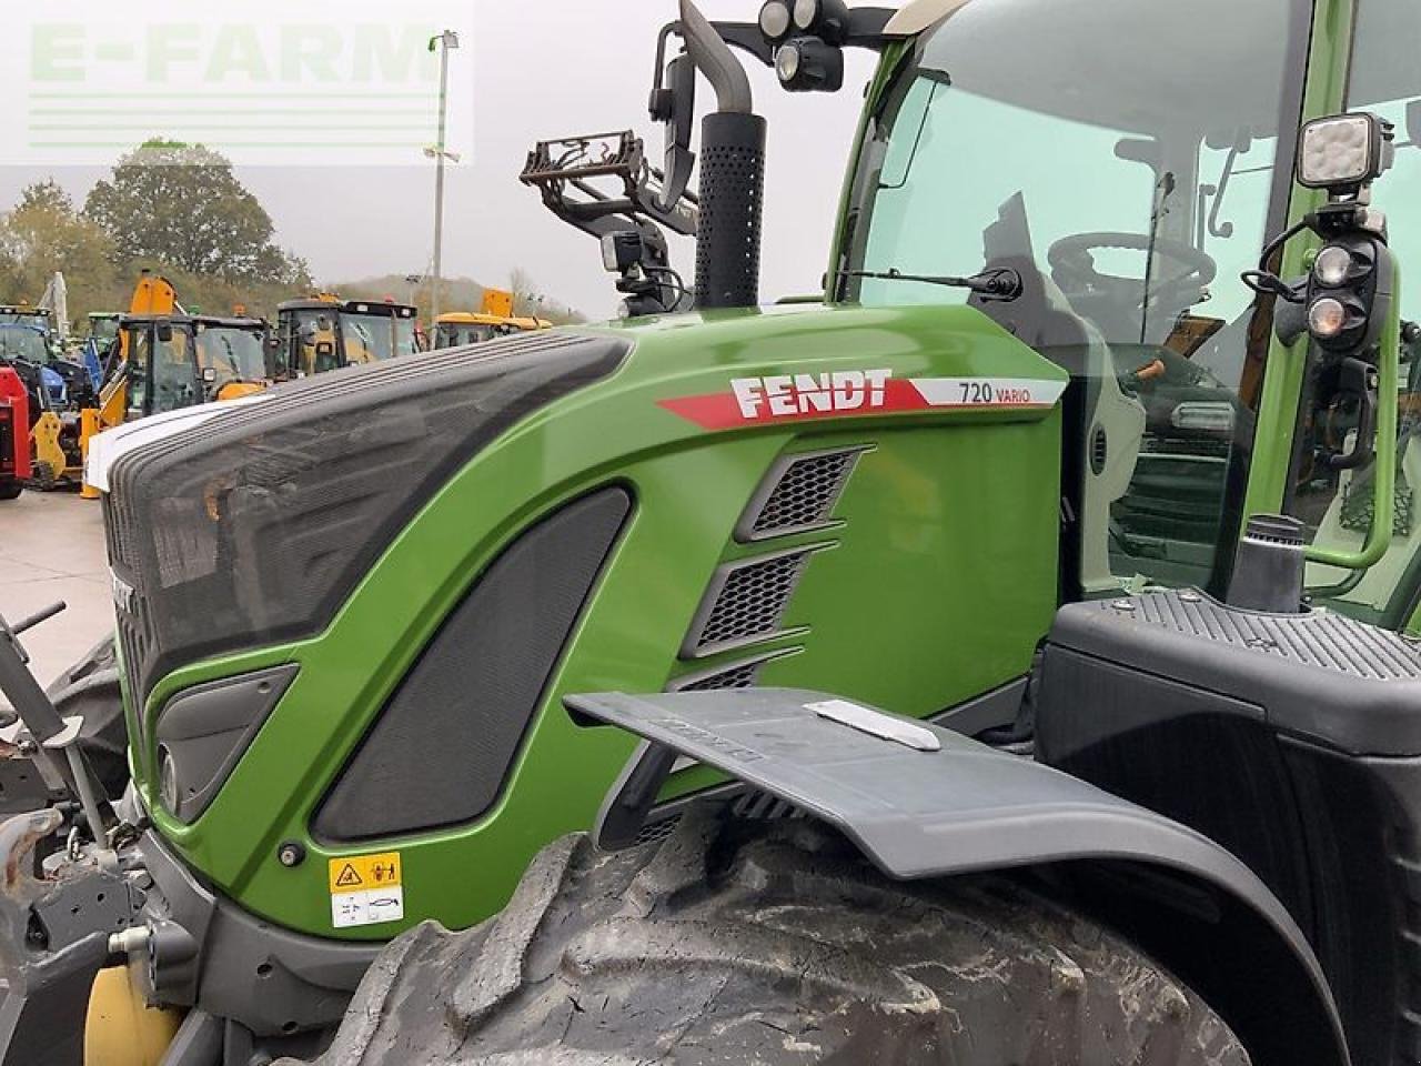
POLYGON ((1414 1060, 1417 44, 685 0, 695 311, 115 431, 132 783, 0 628, 0 1060, 1414 1060), (813 304, 732 48, 880 54, 813 304))

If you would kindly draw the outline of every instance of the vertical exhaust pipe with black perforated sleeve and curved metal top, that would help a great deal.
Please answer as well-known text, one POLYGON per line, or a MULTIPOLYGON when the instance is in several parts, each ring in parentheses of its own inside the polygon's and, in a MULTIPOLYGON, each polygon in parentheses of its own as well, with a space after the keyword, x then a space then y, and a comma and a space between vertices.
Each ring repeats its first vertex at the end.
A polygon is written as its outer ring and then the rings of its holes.
POLYGON ((718 105, 701 122, 696 307, 755 307, 760 298, 766 124, 752 111, 745 68, 692 0, 681 0, 681 34, 718 105))

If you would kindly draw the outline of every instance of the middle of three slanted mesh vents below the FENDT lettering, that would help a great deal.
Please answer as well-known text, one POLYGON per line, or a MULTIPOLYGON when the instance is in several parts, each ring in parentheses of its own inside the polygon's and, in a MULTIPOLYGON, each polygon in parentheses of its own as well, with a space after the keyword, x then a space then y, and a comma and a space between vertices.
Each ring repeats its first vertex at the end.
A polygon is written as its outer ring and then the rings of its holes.
POLYGON ((776 635, 804 563, 816 550, 796 549, 722 566, 691 624, 681 657, 703 658, 776 635))

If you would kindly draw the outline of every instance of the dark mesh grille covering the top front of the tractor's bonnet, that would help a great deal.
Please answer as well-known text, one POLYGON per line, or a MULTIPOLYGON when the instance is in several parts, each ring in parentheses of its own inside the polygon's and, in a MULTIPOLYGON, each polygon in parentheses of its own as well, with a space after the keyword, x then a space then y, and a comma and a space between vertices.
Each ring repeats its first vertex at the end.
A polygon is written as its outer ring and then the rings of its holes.
POLYGON ((183 662, 318 632, 455 470, 628 350, 549 331, 350 367, 124 456, 105 517, 135 593, 134 696, 183 662))

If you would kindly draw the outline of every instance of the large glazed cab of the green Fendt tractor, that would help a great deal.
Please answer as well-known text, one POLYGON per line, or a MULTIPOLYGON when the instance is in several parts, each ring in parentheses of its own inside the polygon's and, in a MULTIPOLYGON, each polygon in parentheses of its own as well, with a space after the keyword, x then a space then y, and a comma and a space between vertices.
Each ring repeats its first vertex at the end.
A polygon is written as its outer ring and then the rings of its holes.
MULTIPOLYGON (((1421 77, 1385 27, 1415 31, 1417 14, 1401 0, 1360 7, 1347 107, 1394 128, 1381 188, 1393 247, 1415 259, 1421 77)), ((827 297, 966 304, 1070 374, 1064 600, 1151 583, 1221 588, 1239 522, 1265 496, 1273 507, 1296 500, 1319 550, 1356 553, 1367 539, 1370 475, 1330 456, 1371 432, 1360 419, 1374 397, 1334 381, 1300 395, 1306 345, 1273 330, 1287 303, 1245 277, 1260 250, 1285 276, 1302 276, 1317 250, 1316 239, 1272 243, 1319 205, 1292 181, 1310 33, 1310 4, 1295 0, 971 0, 885 64, 875 87, 827 297), (1198 40, 1202 26, 1219 27, 1208 47, 1172 44, 1198 40), (1010 276, 1019 291, 1000 298, 942 274, 1010 276), (1286 408, 1299 402, 1290 452, 1286 408)), ((1414 283, 1400 297, 1403 316, 1421 316, 1414 283)), ((1414 340, 1401 358, 1411 412, 1414 340)), ((1410 434, 1391 578, 1324 566, 1310 576, 1344 610, 1393 623, 1405 611, 1387 605, 1388 590, 1421 564, 1410 434)))

